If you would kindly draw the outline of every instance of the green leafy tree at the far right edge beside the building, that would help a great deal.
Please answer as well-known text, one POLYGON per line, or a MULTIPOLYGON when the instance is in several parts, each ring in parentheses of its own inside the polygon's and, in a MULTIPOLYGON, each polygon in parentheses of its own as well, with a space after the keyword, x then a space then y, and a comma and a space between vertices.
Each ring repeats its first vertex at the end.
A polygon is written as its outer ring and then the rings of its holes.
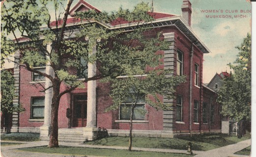
POLYGON ((221 113, 239 124, 238 137, 243 134, 243 121, 251 119, 251 34, 247 34, 243 43, 236 47, 239 52, 229 67, 234 73, 223 79, 218 92, 221 113))

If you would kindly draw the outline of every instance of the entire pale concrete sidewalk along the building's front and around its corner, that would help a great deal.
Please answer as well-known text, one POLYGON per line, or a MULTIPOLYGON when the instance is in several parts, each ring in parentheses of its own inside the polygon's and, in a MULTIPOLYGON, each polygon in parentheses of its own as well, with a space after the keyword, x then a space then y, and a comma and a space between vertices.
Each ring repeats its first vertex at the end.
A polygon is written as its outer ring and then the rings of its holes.
MULTIPOLYGON (((1 147, 1 157, 71 157, 72 156, 72 155, 63 155, 63 154, 46 154, 46 153, 25 152, 25 151, 17 150, 19 148, 46 146, 46 145, 48 145, 48 141, 33 141, 33 142, 1 141, 1 142, 23 143, 21 145, 10 145, 10 146, 1 147)), ((60 146, 70 146, 70 147, 87 147, 87 148, 121 149, 121 150, 128 149, 128 147, 84 145, 84 144, 70 143, 70 142, 59 142, 59 145, 60 146)), ((228 145, 228 146, 221 147, 218 149, 206 151, 206 152, 193 151, 193 153, 198 154, 195 157, 247 157, 247 156, 233 155, 233 153, 240 151, 250 145, 251 145, 251 139, 239 142, 237 144, 228 145), (231 150, 231 151, 228 151, 228 150, 231 150)), ((156 148, 133 147, 132 150, 148 151, 148 152, 165 152, 165 153, 186 153, 186 150, 175 150, 175 149, 156 149, 156 148)), ((83 156, 76 155, 76 157, 83 157, 83 156)), ((93 157, 93 156, 87 156, 87 157, 93 157)))

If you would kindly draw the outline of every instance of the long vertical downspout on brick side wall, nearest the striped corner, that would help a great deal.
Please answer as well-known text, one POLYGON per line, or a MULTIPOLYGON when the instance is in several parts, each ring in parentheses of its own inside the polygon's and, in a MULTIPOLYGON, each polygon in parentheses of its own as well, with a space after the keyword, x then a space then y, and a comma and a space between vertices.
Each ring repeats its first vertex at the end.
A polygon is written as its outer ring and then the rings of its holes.
POLYGON ((193 87, 193 55, 194 46, 192 44, 192 49, 190 52, 190 86, 189 86, 189 133, 192 136, 192 87, 193 87))

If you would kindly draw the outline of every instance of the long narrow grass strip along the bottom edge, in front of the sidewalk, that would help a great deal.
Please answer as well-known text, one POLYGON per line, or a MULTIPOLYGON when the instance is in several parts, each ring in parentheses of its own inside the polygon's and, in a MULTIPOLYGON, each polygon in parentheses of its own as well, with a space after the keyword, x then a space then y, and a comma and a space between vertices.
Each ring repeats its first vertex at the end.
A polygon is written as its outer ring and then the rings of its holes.
POLYGON ((192 157, 186 154, 174 154, 174 153, 160 153, 160 152, 142 152, 128 150, 113 150, 113 149, 97 149, 97 148, 84 148, 84 147, 63 147, 59 148, 47 148, 32 147, 19 149, 22 151, 41 152, 41 153, 57 153, 63 155, 83 155, 83 156, 103 156, 103 157, 192 157))

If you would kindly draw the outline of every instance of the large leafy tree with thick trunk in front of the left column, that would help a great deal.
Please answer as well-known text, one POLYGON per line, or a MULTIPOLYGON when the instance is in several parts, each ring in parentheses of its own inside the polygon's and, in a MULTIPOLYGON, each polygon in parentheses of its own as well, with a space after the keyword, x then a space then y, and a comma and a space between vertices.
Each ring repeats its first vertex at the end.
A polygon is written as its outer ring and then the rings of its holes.
MULTIPOLYGON (((136 58, 133 55, 127 58, 125 53, 129 50, 121 45, 131 46, 143 31, 149 29, 144 24, 153 20, 147 13, 148 5, 143 2, 133 11, 120 8, 117 12, 108 14, 89 10, 76 14, 78 21, 92 20, 88 24, 74 23, 73 26, 79 28, 76 32, 70 29, 71 26, 67 26, 72 2, 73 0, 5 0, 1 9, 1 30, 4 36, 1 39, 1 44, 4 45, 1 47, 1 56, 19 51, 20 58, 16 58, 19 60, 16 64, 42 76, 39 79, 48 79, 52 84, 47 87, 39 84, 42 92, 53 90, 48 147, 58 147, 57 117, 61 96, 77 87, 83 87, 89 80, 122 76, 126 69, 124 65, 134 63, 136 58), (113 22, 118 25, 124 21, 137 24, 132 26, 133 33, 128 33, 132 35, 123 35, 125 28, 110 30, 101 25, 113 22), (10 34, 13 35, 15 44, 5 38, 10 34), (26 40, 22 41, 24 38, 26 40), (95 49, 97 55, 93 53, 95 49), (88 64, 97 66, 97 73, 91 77, 86 73, 88 64), (42 65, 50 67, 54 74, 33 68, 42 65), (79 77, 85 79, 77 79, 79 77), (62 84, 66 86, 65 90, 60 90, 62 84)), ((152 54, 144 57, 150 59, 152 54)))

